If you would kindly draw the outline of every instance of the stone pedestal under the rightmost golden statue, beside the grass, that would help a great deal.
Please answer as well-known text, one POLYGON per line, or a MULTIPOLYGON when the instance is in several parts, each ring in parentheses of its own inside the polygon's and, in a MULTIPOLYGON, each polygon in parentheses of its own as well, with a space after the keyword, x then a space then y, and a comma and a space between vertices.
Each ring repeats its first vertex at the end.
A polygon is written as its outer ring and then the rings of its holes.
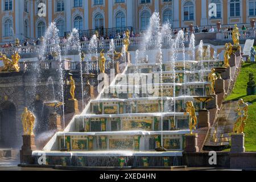
POLYGON ((231 149, 232 153, 245 152, 245 134, 231 134, 231 149))

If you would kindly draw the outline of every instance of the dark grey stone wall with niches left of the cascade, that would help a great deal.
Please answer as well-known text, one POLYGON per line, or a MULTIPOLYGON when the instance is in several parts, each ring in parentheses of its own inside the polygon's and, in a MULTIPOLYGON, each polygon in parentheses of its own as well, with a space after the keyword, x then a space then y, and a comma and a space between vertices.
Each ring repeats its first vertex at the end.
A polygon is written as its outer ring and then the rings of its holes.
MULTIPOLYGON (((79 100, 80 108, 81 108, 81 76, 80 73, 70 73, 67 71, 65 73, 65 78, 68 75, 72 74, 73 78, 76 82, 76 90, 75 97, 79 100)), ((43 71, 40 74, 35 74, 35 72, 13 72, 13 73, 0 73, 0 113, 6 113, 9 109, 9 105, 15 107, 15 127, 12 130, 15 131, 7 131, 10 135, 15 135, 15 146, 5 146, 5 147, 20 147, 22 143, 22 122, 20 119, 20 115, 23 112, 24 107, 28 107, 30 110, 35 112, 35 105, 38 105, 36 113, 38 113, 38 109, 43 107, 43 102, 53 101, 53 89, 52 82, 48 81, 49 77, 53 80, 53 86, 55 89, 55 100, 62 101, 61 96, 61 81, 60 76, 56 74, 55 70, 43 71), (35 79, 35 77, 38 77, 35 79), (39 95, 39 98, 36 99, 36 95, 39 95)), ((68 77, 69 78, 69 77, 68 77)), ((84 85, 86 84, 86 79, 84 78, 84 85)), ((90 82, 94 82, 90 80, 90 82)), ((84 97, 86 97, 86 93, 84 93, 84 97)), ((69 94, 69 86, 64 85, 64 98, 65 101, 68 98, 71 98, 69 94)), ((61 110, 58 110, 59 114, 61 114, 61 110)), ((62 114, 61 114, 62 115, 62 114)), ((4 117, 6 120, 8 117, 4 117)), ((39 117, 41 120, 47 120, 47 118, 42 118, 42 115, 39 117)), ((8 121, 2 121, 0 115, 0 123, 8 121)), ((37 119, 38 121, 38 119, 37 119)), ((46 121, 42 121, 46 122, 46 121)), ((2 126, 2 125, 0 125, 2 126)), ((11 130, 11 127, 7 127, 5 125, 6 130, 11 130)), ((1 127, 0 127, 1 131, 1 127)), ((6 136, 5 136, 6 137, 6 136)), ((0 140, 1 141, 1 140, 0 140)), ((9 143, 9 142, 7 142, 9 143)), ((0 142, 1 144, 1 142, 0 142)))

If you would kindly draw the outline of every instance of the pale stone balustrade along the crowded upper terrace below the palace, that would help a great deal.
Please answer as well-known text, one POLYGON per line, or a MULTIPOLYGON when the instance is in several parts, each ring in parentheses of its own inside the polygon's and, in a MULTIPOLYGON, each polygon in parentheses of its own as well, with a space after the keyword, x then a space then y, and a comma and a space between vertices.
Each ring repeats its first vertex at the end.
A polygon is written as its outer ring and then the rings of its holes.
MULTIPOLYGON (((255 39, 255 30, 250 29, 250 30, 245 30, 245 31, 240 31, 240 40, 246 40, 246 39, 255 39)), ((189 41, 191 33, 185 34, 185 41, 189 41)), ((174 35, 175 37, 175 35, 174 35)), ((143 46, 143 37, 138 37, 138 38, 130 38, 130 48, 139 48, 143 46)), ((195 39, 196 40, 224 40, 224 41, 231 41, 232 40, 232 32, 231 31, 219 31, 219 32, 200 32, 195 34, 195 39)), ((122 48, 123 46, 123 39, 113 39, 114 40, 114 46, 115 48, 122 48)), ((98 41, 98 49, 106 49, 108 50, 110 48, 110 42, 111 40, 99 40, 98 41)), ((154 45, 156 42, 155 39, 152 39, 148 45, 154 45)), ((87 51, 89 48, 89 41, 81 42, 81 49, 82 51, 87 51)), ((163 47, 168 46, 168 42, 166 39, 164 39, 163 42, 163 47)), ((46 46, 46 51, 51 52, 55 48, 55 44, 52 45, 47 45, 46 46)), ((73 46, 73 48, 69 48, 73 50, 77 50, 76 46, 73 46)), ((40 52, 40 46, 20 46, 20 47, 7 47, 7 48, 0 48, 0 53, 4 53, 6 55, 11 55, 15 51, 18 51, 21 54, 29 54, 29 53, 36 53, 38 54, 40 52)), ((62 52, 67 52, 67 44, 60 44, 60 51, 62 52)))

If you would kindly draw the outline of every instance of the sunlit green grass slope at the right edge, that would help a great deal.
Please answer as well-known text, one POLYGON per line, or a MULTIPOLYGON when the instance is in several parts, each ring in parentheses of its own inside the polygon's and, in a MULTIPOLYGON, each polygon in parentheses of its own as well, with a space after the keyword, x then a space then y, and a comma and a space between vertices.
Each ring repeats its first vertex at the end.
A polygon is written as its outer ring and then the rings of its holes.
POLYGON ((249 81, 249 73, 253 73, 256 81, 256 62, 243 63, 237 82, 230 96, 226 100, 238 100, 242 98, 249 102, 249 118, 245 126, 245 150, 256 151, 256 95, 246 96, 246 85, 249 81))

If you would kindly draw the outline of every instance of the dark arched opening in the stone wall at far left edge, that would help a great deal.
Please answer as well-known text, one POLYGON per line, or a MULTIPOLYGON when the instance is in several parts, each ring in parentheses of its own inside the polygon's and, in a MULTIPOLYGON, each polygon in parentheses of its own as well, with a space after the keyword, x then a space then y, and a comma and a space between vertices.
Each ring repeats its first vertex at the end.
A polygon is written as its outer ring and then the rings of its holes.
POLYGON ((5 101, 0 107, 0 146, 16 147, 16 107, 13 102, 5 101))

